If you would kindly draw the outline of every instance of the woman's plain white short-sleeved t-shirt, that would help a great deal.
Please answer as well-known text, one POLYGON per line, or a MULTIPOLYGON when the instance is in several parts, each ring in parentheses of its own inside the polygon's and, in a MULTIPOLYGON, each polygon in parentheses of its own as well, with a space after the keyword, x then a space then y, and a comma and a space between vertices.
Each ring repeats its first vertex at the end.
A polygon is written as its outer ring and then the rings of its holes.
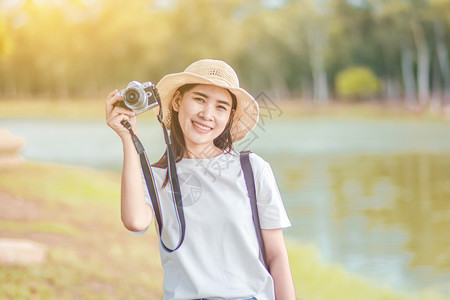
MULTIPOLYGON (((254 153, 250 154, 250 162, 261 227, 289 227, 270 165, 254 153)), ((162 240, 173 249, 178 244, 180 227, 170 183, 162 189, 166 169, 152 169, 163 214, 162 240)), ((177 163, 177 173, 186 235, 181 247, 172 253, 160 246, 164 299, 275 299, 272 277, 259 260, 239 153, 223 153, 210 159, 184 158, 177 163)), ((151 205, 148 192, 146 202, 151 205)))

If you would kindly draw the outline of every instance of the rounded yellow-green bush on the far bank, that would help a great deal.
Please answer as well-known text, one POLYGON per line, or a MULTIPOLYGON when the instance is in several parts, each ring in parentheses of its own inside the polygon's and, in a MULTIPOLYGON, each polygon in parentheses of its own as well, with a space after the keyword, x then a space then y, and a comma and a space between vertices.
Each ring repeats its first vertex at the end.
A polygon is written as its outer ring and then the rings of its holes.
POLYGON ((370 98, 378 91, 378 78, 367 67, 350 67, 336 76, 336 93, 340 98, 370 98))

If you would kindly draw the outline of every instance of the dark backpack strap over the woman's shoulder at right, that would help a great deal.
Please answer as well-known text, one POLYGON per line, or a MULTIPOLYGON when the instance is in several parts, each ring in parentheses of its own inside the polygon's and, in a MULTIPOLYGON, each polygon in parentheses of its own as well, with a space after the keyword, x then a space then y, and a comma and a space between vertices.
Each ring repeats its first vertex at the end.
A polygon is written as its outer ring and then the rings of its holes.
POLYGON ((261 224, 259 222, 258 206, 256 203, 256 189, 255 178, 253 176, 252 165, 250 164, 250 152, 240 153, 241 168, 244 172, 245 185, 247 186, 248 195, 250 197, 250 204, 252 207, 253 224, 255 225, 256 237, 259 244, 259 259, 264 264, 267 270, 269 270, 266 261, 266 251, 264 249, 264 242, 261 234, 261 224))

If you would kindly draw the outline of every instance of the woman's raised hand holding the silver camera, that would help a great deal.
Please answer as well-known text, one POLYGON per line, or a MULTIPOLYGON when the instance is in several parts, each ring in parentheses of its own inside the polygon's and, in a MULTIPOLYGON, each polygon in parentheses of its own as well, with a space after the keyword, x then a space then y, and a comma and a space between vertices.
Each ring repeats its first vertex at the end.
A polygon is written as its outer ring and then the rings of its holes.
POLYGON ((115 106, 119 101, 123 101, 123 99, 118 90, 108 94, 106 98, 106 124, 123 139, 130 136, 130 133, 120 122, 128 121, 133 127, 133 131, 136 132, 136 114, 132 110, 115 106))

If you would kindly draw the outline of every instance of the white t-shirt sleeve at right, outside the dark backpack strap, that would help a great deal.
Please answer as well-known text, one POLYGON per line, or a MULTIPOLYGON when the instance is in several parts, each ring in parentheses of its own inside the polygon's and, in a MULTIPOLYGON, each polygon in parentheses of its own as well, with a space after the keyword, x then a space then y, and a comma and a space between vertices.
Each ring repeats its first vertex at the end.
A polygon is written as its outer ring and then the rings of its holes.
POLYGON ((261 228, 277 229, 291 226, 269 163, 256 154, 251 154, 250 158, 261 228))

